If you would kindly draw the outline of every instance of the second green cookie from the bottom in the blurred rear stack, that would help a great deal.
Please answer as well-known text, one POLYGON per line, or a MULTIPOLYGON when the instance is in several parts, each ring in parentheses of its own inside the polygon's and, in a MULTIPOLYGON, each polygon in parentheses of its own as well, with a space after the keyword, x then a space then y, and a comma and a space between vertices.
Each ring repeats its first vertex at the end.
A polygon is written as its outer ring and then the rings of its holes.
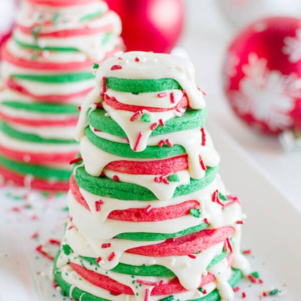
POLYGON ((28 142, 35 143, 53 143, 53 144, 74 144, 77 143, 75 140, 65 140, 65 139, 52 139, 52 138, 42 138, 36 134, 30 134, 25 132, 20 132, 15 130, 13 127, 9 126, 5 122, 0 122, 0 130, 6 135, 17 139, 28 142))

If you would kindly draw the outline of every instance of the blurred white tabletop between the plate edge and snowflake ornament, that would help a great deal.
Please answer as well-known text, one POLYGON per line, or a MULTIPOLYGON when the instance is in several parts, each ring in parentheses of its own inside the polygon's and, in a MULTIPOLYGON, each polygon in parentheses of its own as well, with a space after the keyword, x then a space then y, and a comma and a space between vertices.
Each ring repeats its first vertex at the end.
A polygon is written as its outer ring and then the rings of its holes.
MULTIPOLYGON (((238 142, 265 177, 301 211, 301 152, 285 153, 275 137, 249 129, 232 112, 222 89, 221 68, 233 28, 218 8, 223 0, 186 0, 186 27, 180 41, 208 96, 209 123, 217 123, 238 142)), ((222 160, 227 158, 222 158, 222 160)), ((246 181, 248 175, 244 175, 246 181)))

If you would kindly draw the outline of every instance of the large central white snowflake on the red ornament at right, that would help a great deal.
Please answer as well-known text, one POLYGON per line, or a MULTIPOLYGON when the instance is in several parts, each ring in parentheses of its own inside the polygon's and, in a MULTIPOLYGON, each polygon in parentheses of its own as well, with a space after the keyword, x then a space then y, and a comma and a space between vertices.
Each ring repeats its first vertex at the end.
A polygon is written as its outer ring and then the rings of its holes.
POLYGON ((266 65, 265 58, 250 53, 248 64, 242 67, 245 77, 239 84, 240 91, 233 92, 231 100, 239 114, 252 114, 277 131, 293 123, 289 112, 294 108, 294 97, 301 96, 301 79, 294 73, 271 71, 266 65))

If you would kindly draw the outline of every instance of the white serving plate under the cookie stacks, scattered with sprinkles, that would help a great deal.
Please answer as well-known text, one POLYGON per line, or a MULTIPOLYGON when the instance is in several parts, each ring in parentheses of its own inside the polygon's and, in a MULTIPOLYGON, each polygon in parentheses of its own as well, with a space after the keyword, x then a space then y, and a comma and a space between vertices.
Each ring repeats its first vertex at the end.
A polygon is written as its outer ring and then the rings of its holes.
MULTIPOLYGON (((278 288, 286 296, 263 297, 263 300, 298 301, 301 299, 301 215, 285 196, 264 178, 230 136, 215 125, 209 127, 222 157, 221 174, 229 190, 238 195, 247 214, 243 233, 243 249, 250 248, 253 270, 263 284, 248 279, 239 283, 244 300, 255 301, 263 290, 278 288)), ((39 255, 35 248, 49 238, 61 239, 63 222, 68 213, 65 196, 45 198, 32 191, 27 200, 15 200, 7 193, 23 195, 26 189, 0 188, 0 301, 61 301, 63 297, 51 285, 52 262, 39 255), (31 204, 32 209, 23 208, 31 204), (13 207, 22 208, 20 212, 13 207), (32 220, 36 215, 37 219, 32 220), (38 239, 31 239, 39 232, 38 239), (38 256, 38 259, 37 259, 38 256)), ((57 246, 50 246, 55 253, 57 246)), ((65 299, 69 299, 65 297, 65 299)))

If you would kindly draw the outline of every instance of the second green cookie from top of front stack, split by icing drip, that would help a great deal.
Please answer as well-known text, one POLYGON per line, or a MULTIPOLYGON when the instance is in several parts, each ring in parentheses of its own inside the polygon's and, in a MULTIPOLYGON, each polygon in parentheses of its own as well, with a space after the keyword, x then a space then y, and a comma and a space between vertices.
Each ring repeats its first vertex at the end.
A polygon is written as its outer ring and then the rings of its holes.
MULTIPOLYGON (((152 136, 163 135, 197 128, 203 128, 207 119, 207 108, 203 110, 189 110, 182 117, 174 117, 165 122, 165 126, 158 126, 152 133, 152 136)), ((105 117, 106 111, 96 109, 87 113, 89 124, 100 131, 111 135, 127 137, 123 129, 111 118, 105 117)))

